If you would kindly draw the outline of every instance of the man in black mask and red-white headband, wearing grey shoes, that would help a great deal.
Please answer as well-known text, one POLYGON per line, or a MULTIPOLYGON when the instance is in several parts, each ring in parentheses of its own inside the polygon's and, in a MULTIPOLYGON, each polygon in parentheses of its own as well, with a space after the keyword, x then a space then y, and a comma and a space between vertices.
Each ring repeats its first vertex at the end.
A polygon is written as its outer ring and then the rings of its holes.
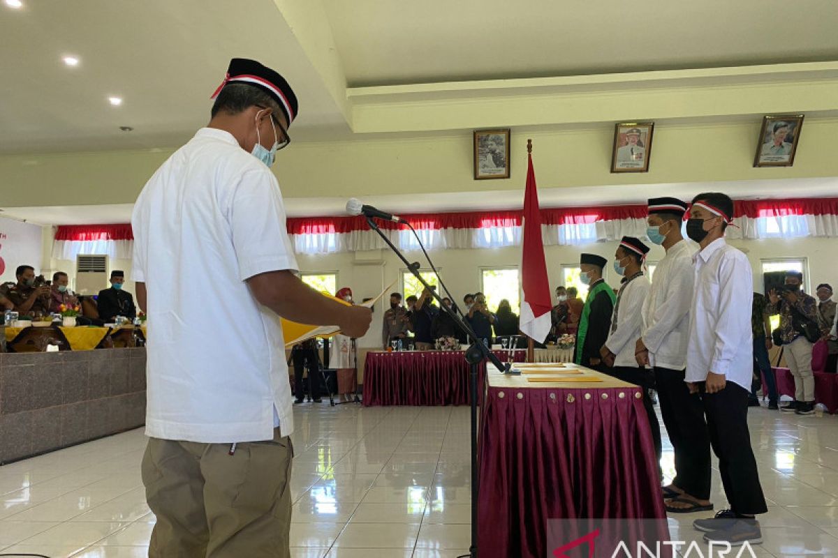
POLYGON ((753 272, 744 253, 725 243, 733 201, 710 192, 692 201, 686 232, 699 243, 690 313, 686 381, 701 395, 710 443, 730 509, 696 520, 707 541, 762 542, 757 514, 768 511, 747 430, 747 395, 753 376, 751 306, 753 272))

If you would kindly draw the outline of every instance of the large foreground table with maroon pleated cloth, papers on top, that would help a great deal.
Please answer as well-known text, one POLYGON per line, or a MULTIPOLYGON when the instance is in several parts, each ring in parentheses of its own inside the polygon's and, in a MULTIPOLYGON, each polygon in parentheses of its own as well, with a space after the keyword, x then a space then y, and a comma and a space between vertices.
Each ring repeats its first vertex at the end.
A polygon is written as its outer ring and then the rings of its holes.
POLYGON ((529 383, 488 372, 479 438, 481 556, 548 555, 547 521, 559 519, 646 518, 666 540, 641 388, 582 370, 603 381, 529 383))

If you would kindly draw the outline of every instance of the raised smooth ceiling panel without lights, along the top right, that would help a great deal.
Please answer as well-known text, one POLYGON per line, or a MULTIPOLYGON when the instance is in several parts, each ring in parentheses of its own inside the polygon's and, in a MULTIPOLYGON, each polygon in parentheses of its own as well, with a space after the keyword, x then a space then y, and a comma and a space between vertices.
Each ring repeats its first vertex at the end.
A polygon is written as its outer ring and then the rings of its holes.
POLYGON ((324 3, 350 86, 838 59, 835 0, 324 3))

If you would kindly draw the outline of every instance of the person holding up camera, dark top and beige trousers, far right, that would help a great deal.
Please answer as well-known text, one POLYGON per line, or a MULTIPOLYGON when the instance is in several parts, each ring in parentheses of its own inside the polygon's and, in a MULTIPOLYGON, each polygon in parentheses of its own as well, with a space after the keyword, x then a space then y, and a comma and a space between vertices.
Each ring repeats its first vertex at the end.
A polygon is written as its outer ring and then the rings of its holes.
POLYGON ((815 372, 812 371, 812 346, 820 338, 818 303, 801 289, 803 274, 787 271, 785 285, 768 292, 768 313, 780 315, 774 331, 774 345, 785 347, 786 362, 794 376, 794 401, 780 411, 799 415, 815 412, 815 372), (814 338, 811 331, 814 327, 814 338))

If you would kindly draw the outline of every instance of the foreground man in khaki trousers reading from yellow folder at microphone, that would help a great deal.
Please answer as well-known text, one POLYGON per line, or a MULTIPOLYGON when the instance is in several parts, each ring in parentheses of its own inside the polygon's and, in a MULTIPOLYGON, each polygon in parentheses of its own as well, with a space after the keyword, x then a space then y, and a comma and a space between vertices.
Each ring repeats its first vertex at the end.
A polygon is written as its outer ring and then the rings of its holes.
POLYGON ((291 87, 233 59, 216 95, 209 125, 154 173, 132 217, 148 316, 148 554, 289 556, 294 425, 279 315, 353 337, 371 315, 294 274, 269 169, 297 116, 291 87), (194 289, 196 276, 213 280, 194 289))

